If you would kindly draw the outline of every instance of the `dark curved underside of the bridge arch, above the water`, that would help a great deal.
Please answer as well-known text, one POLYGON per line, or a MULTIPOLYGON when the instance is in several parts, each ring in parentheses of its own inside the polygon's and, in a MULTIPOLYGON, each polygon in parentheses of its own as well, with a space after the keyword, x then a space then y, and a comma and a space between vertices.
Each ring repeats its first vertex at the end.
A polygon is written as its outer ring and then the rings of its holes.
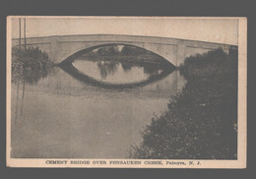
POLYGON ((64 60, 62 60, 60 62, 60 64, 63 65, 65 63, 73 62, 76 58, 78 58, 79 56, 81 56, 84 53, 90 52, 90 51, 92 51, 96 48, 100 48, 100 47, 104 47, 104 46, 110 46, 110 45, 127 45, 127 46, 133 46, 133 47, 136 47, 136 48, 139 48, 139 49, 148 50, 148 51, 152 52, 153 54, 155 54, 156 56, 160 57, 160 59, 162 59, 162 62, 169 63, 172 66, 175 66, 175 64, 171 63, 169 60, 167 60, 166 58, 164 58, 163 56, 158 54, 158 52, 155 52, 151 49, 148 49, 148 48, 145 48, 145 47, 142 47, 142 46, 139 46, 139 45, 130 44, 130 43, 123 43, 123 42, 121 42, 121 43, 120 42, 101 43, 101 44, 96 44, 96 45, 86 47, 86 48, 83 48, 83 49, 79 49, 75 53, 73 53, 72 55, 70 55, 67 58, 65 58, 64 60))

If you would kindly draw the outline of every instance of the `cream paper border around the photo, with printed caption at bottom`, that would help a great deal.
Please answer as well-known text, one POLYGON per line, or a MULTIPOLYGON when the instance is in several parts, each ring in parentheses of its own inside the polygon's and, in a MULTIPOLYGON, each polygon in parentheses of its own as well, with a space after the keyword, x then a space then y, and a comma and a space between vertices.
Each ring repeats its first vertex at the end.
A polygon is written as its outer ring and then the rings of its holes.
POLYGON ((238 150, 237 160, 182 160, 182 159, 81 159, 81 158, 44 158, 44 159, 17 159, 11 158, 11 46, 12 46, 12 18, 7 18, 7 90, 6 90, 6 114, 7 114, 7 144, 6 160, 10 167, 97 167, 97 168, 246 168, 246 141, 247 141, 247 19, 232 17, 51 17, 51 16, 20 16, 19 18, 95 18, 95 19, 236 19, 238 20, 238 150), (52 161, 67 161, 66 164, 47 164, 52 161), (70 164, 71 160, 90 161, 90 164, 70 164), (94 164, 104 160, 106 164, 94 164), (141 161, 142 164, 110 164, 110 161, 141 161), (161 164, 148 164, 148 161, 161 161, 161 164), (166 164, 166 161, 184 162, 186 165, 166 164), (190 161, 194 165, 189 164, 190 161), (197 165, 200 161, 200 165, 197 165))

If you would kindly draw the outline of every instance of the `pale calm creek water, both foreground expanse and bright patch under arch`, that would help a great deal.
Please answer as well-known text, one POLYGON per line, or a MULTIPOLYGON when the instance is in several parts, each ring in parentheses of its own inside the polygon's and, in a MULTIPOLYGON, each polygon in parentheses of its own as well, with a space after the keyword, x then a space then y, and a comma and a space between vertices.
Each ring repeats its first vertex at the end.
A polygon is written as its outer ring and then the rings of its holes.
MULTIPOLYGON (((82 74, 106 84, 133 84, 162 70, 129 63, 77 60, 82 74)), ((178 71, 132 89, 82 82, 56 67, 37 84, 12 84, 12 156, 127 158, 140 131, 167 107, 185 80, 178 71)))

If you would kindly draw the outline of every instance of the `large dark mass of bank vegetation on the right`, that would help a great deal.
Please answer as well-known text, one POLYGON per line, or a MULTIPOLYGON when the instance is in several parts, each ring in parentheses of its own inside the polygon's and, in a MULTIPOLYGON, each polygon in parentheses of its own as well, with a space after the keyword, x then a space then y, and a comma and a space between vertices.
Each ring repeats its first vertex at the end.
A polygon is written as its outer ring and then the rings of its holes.
POLYGON ((236 159, 237 53, 218 49, 180 67, 187 85, 142 132, 132 158, 236 159))

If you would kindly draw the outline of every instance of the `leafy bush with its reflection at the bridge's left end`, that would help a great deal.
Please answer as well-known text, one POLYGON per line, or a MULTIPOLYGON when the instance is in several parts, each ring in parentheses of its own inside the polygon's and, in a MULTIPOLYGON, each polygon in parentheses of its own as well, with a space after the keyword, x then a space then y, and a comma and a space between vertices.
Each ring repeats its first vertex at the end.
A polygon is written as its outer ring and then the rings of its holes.
POLYGON ((12 50, 12 82, 23 80, 34 84, 53 69, 54 64, 48 55, 38 48, 18 47, 12 50))

